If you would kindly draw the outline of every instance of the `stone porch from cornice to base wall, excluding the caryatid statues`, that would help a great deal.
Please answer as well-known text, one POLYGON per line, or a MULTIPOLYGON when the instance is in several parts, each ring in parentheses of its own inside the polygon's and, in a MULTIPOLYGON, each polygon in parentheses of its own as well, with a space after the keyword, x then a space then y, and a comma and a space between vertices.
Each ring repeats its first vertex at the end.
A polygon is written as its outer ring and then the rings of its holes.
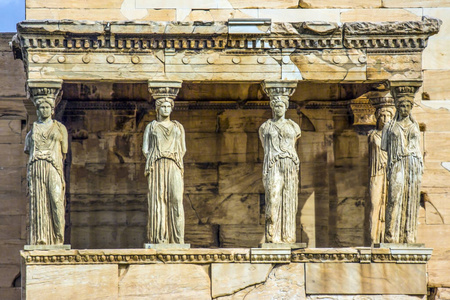
POLYGON ((62 91, 56 117, 69 129, 66 242, 74 249, 23 251, 23 295, 425 299, 431 249, 363 247, 366 134, 375 124, 370 99, 396 88, 416 94, 422 51, 439 26, 430 18, 20 23, 13 48, 28 86, 62 91), (188 149, 185 239, 195 249, 137 249, 149 89, 174 81, 182 87, 172 116, 188 149), (265 205, 257 129, 271 117, 261 84, 295 90, 287 117, 302 130, 297 242, 307 249, 256 248, 265 205))

